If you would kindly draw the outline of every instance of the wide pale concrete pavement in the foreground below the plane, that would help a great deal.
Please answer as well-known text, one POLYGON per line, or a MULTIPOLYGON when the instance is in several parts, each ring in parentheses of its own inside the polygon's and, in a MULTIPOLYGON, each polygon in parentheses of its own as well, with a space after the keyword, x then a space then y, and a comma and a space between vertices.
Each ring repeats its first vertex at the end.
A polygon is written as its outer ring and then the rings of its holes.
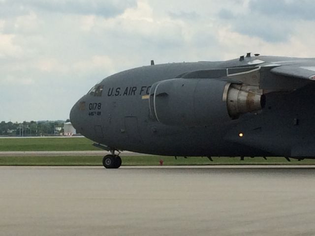
POLYGON ((0 167, 0 235, 314 236, 314 173, 0 167))

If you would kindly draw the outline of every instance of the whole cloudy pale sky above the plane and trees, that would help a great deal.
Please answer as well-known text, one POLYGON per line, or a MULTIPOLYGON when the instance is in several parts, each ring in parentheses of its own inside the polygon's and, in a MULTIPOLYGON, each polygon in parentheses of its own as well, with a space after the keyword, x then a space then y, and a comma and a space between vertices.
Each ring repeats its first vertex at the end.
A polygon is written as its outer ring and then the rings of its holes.
POLYGON ((0 0, 0 121, 69 118, 129 68, 315 57, 314 0, 0 0))

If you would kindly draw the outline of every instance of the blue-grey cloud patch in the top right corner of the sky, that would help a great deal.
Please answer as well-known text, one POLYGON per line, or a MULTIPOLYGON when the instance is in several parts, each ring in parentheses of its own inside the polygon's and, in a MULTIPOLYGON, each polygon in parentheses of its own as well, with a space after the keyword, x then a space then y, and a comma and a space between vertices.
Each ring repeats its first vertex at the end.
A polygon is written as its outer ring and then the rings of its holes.
POLYGON ((229 5, 219 8, 219 19, 241 34, 259 37, 265 42, 289 42, 304 21, 313 22, 313 0, 247 0, 243 10, 229 5))

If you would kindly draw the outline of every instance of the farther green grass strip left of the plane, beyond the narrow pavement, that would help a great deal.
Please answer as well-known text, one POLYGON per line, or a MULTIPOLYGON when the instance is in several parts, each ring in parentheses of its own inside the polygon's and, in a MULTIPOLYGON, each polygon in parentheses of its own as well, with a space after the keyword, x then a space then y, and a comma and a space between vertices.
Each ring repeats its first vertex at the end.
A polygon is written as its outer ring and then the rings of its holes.
POLYGON ((87 138, 0 139, 0 151, 86 151, 100 150, 87 138))

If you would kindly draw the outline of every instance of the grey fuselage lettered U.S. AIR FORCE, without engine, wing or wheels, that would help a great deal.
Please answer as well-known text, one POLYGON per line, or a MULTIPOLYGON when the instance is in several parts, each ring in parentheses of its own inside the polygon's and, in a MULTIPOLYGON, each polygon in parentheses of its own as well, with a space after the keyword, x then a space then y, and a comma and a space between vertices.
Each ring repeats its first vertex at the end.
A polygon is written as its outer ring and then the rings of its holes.
POLYGON ((259 112, 202 126, 165 125, 152 119, 148 97, 153 84, 179 78, 189 71, 296 60, 314 61, 253 57, 245 61, 169 63, 126 70, 95 85, 73 106, 70 119, 77 132, 111 149, 175 156, 290 156, 294 145, 315 143, 313 84, 290 93, 269 93, 259 112), (299 125, 294 120, 299 120, 299 125))

